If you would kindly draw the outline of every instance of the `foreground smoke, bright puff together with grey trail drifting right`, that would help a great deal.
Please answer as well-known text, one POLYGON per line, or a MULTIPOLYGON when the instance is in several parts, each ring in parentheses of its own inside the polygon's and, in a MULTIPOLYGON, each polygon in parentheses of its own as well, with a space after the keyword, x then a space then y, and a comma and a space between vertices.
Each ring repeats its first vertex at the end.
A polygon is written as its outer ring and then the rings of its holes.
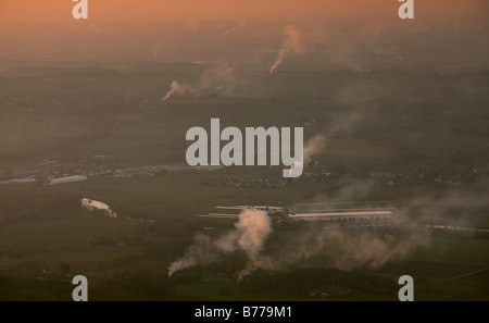
MULTIPOLYGON (((371 179, 348 183, 335 197, 323 196, 312 200, 311 208, 321 208, 317 203, 324 203, 325 208, 331 208, 333 204, 338 208, 338 203, 362 200, 373 187, 371 179)), ((215 239, 196 236, 195 244, 170 265, 168 274, 203 262, 222 261, 225 256, 235 252, 243 252, 248 259, 241 273, 256 269, 280 270, 318 256, 324 259, 322 265, 327 268, 346 271, 364 266, 376 269, 389 260, 408 258, 416 250, 429 247, 434 241, 432 228, 454 227, 457 232, 467 228, 467 234, 477 232, 472 231, 472 220, 451 220, 447 219, 446 213, 453 208, 487 209, 486 194, 487 191, 466 194, 452 190, 442 196, 419 195, 400 203, 394 218, 385 224, 362 222, 340 225, 335 222, 311 221, 308 222, 311 229, 300 231, 299 236, 280 237, 271 241, 267 240, 272 234, 271 219, 262 211, 246 210, 240 214, 235 229, 224 236, 215 239), (415 216, 412 216, 413 212, 415 216), (265 244, 268 244, 266 252, 265 244)))

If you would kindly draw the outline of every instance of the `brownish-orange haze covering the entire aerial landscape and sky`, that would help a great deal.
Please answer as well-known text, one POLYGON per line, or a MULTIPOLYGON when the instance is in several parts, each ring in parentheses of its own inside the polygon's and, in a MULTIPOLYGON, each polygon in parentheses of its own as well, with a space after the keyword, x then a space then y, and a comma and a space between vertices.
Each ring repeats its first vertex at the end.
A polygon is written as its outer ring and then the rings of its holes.
POLYGON ((0 300, 488 300, 487 1, 74 4, 0 0, 0 300), (189 166, 215 117, 303 174, 189 166))

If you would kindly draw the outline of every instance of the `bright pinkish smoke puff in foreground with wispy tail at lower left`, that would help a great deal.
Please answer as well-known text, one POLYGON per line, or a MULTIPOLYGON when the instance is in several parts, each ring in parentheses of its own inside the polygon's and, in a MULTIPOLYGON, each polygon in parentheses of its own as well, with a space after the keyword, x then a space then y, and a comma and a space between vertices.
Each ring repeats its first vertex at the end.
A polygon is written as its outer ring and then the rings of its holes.
POLYGON ((244 210, 239 214, 235 229, 224 236, 212 239, 198 235, 185 254, 170 264, 168 276, 177 271, 196 266, 202 262, 215 262, 224 256, 243 252, 248 259, 248 269, 256 269, 266 263, 261 251, 266 238, 272 233, 271 219, 264 211, 244 210))

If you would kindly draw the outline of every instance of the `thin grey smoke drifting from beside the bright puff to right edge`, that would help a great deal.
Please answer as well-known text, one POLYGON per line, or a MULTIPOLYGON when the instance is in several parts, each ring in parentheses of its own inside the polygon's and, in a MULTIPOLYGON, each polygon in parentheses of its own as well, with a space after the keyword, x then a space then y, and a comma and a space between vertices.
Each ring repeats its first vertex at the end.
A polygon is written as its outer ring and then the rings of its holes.
MULTIPOLYGON (((311 201, 310 207, 317 209, 317 202, 322 202, 331 208, 330 204, 363 200, 373 188, 369 181, 349 184, 340 189, 337 197, 318 197, 311 201)), ((326 266, 340 270, 375 269, 389 260, 404 259, 416 250, 428 248, 434 243, 432 228, 466 235, 488 233, 481 220, 484 215, 475 215, 484 214, 482 210, 488 209, 487 194, 487 189, 478 192, 452 189, 439 196, 422 191, 419 196, 403 201, 396 211, 396 218, 384 225, 352 223, 344 226, 311 222, 311 227, 316 229, 308 232, 300 241, 276 241, 280 247, 274 264, 280 269, 321 256, 327 259, 326 266), (319 225, 325 226, 318 229, 319 225)), ((440 256, 442 253, 437 251, 436 257, 440 256)))

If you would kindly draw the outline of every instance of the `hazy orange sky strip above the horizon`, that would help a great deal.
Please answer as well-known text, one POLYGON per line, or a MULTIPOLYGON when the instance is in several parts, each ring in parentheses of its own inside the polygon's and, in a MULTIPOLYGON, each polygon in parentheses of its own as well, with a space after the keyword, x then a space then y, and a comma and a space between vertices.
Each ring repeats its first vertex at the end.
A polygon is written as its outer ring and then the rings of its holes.
MULTIPOLYGON (((398 0, 89 0, 89 18, 106 21, 216 21, 397 18, 398 0)), ((489 0, 415 0, 415 18, 489 18, 489 0)), ((73 20, 71 0, 0 0, 4 23, 73 20)))

